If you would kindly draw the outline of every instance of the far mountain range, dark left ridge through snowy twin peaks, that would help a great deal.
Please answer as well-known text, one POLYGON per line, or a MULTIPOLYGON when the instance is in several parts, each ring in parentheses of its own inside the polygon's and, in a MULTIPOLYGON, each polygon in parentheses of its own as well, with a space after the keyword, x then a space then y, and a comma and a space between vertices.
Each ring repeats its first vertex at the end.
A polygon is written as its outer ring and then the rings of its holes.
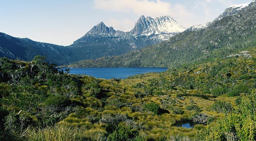
POLYGON ((50 63, 63 65, 142 49, 161 43, 184 30, 184 27, 169 16, 155 19, 141 16, 130 32, 116 31, 100 22, 67 47, 0 33, 0 57, 30 61, 35 55, 41 55, 47 56, 50 63))

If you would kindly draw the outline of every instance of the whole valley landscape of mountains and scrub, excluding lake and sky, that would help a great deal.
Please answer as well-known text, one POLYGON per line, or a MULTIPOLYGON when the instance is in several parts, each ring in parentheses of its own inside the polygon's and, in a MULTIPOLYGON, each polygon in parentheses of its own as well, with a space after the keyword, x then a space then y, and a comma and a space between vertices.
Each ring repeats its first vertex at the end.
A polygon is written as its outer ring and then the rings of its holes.
POLYGON ((232 5, 188 29, 170 16, 128 32, 101 22, 70 46, 0 33, 0 140, 255 141, 255 12, 255 0, 232 5), (69 69, 91 67, 168 69, 69 69))

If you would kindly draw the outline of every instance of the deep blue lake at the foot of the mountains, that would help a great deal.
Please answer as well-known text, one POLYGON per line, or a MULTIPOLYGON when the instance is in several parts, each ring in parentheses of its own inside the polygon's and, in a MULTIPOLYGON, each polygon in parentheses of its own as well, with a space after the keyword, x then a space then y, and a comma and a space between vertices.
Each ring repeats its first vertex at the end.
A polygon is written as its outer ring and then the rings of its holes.
MULTIPOLYGON (((66 68, 62 68, 65 70, 66 68)), ((110 79, 127 78, 136 74, 144 74, 149 72, 163 72, 167 68, 70 68, 69 74, 86 74, 96 78, 110 79)))

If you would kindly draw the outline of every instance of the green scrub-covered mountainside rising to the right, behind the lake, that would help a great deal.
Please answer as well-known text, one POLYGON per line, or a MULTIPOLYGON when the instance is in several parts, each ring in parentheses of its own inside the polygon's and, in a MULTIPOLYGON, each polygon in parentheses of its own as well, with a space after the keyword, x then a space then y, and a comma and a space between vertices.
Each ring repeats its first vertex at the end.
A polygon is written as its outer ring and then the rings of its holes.
POLYGON ((227 8, 207 27, 186 30, 160 44, 125 55, 84 60, 67 67, 168 67, 225 58, 256 46, 256 2, 244 8, 227 8), (226 14, 225 14, 226 13, 226 14), (227 14, 233 13, 233 14, 227 14))

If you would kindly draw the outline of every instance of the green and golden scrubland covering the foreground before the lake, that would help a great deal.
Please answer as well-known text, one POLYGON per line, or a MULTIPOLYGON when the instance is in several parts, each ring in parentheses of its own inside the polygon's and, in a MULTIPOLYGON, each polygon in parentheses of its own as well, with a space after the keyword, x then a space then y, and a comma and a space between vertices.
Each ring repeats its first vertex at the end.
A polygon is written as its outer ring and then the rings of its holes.
POLYGON ((0 58, 0 140, 256 140, 255 52, 123 80, 0 58))

